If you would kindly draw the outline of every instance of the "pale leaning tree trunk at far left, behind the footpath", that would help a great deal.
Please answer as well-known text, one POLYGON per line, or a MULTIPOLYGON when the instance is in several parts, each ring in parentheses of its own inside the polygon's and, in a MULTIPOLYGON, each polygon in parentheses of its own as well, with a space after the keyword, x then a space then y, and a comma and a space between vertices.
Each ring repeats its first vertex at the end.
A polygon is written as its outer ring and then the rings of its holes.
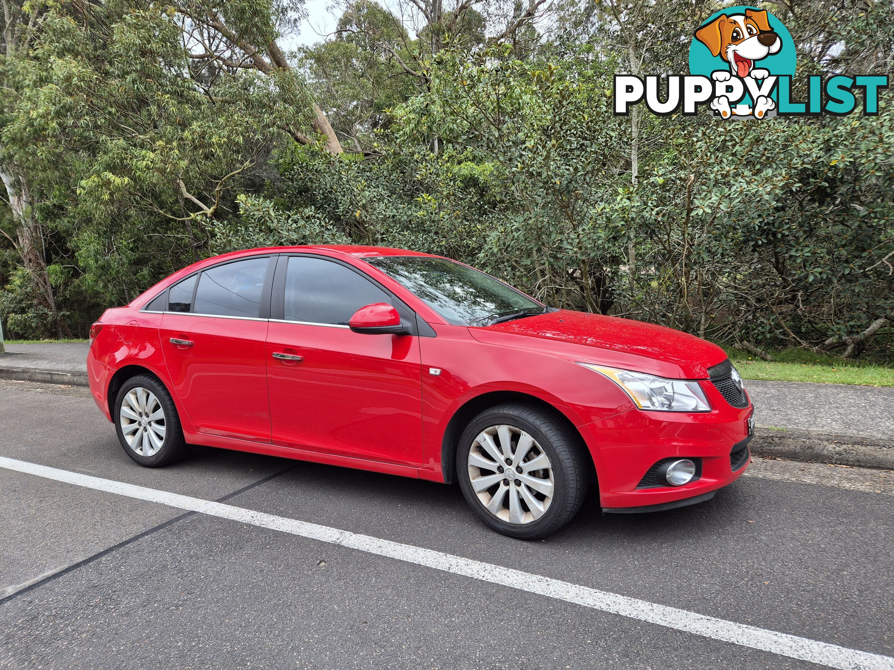
POLYGON ((53 285, 46 273, 46 254, 44 252, 44 236, 40 230, 37 214, 31 202, 28 180, 21 173, 16 174, 7 166, 0 165, 0 180, 6 187, 6 196, 13 212, 16 225, 16 244, 21 263, 34 278, 35 286, 46 302, 46 307, 53 314, 56 337, 62 338, 62 324, 59 322, 59 311, 53 297, 53 285))

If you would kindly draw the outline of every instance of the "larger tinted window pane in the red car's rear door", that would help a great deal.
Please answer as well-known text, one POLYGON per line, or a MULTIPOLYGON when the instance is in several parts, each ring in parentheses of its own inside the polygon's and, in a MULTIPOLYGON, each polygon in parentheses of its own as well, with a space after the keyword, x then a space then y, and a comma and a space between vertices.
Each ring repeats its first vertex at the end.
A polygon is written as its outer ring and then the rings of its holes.
POLYGON ((267 258, 247 258, 202 272, 196 291, 196 314, 257 317, 267 272, 267 258))

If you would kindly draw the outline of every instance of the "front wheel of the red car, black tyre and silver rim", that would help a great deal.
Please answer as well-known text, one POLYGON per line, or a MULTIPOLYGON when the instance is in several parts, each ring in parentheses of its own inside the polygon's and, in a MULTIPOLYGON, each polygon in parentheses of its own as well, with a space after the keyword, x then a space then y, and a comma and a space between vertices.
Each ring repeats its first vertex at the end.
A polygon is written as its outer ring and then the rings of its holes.
POLYGON ((523 540, 558 531, 586 496, 578 440, 534 406, 499 405, 477 415, 460 437, 456 471, 476 514, 493 530, 523 540))

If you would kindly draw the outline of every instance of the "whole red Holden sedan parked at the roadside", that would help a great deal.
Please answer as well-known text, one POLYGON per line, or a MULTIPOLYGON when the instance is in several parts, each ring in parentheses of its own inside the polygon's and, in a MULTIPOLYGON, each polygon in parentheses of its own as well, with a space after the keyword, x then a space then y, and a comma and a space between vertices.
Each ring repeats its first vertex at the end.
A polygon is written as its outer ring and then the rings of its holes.
POLYGON ((90 330, 97 405, 155 467, 189 443, 459 482, 485 523, 555 532, 712 498, 752 407, 720 347, 544 306, 468 265, 274 247, 176 272, 90 330))

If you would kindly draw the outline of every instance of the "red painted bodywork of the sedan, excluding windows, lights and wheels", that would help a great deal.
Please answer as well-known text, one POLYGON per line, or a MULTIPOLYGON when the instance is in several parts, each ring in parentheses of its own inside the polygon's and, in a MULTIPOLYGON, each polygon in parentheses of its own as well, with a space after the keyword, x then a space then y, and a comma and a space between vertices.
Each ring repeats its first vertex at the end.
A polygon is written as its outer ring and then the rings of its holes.
POLYGON ((745 471, 731 472, 730 449, 748 436, 750 403, 730 406, 707 381, 708 368, 726 359, 720 347, 661 326, 569 311, 485 328, 451 325, 363 260, 375 255, 427 254, 272 247, 217 256, 174 273, 129 306, 101 317, 103 328, 88 357, 97 405, 111 420, 114 374, 139 366, 171 392, 188 442, 443 482, 452 470, 442 463, 450 453, 444 436, 451 419, 485 394, 525 394, 577 428, 593 458, 603 507, 699 496, 745 471), (141 311, 199 269, 243 256, 289 253, 350 264, 401 298, 435 336, 141 311), (172 344, 171 338, 193 346, 172 344), (303 360, 283 361, 274 353, 303 360), (580 363, 701 380, 712 410, 640 410, 613 381, 580 363), (680 487, 637 489, 648 468, 670 456, 700 457, 701 477, 680 487))

